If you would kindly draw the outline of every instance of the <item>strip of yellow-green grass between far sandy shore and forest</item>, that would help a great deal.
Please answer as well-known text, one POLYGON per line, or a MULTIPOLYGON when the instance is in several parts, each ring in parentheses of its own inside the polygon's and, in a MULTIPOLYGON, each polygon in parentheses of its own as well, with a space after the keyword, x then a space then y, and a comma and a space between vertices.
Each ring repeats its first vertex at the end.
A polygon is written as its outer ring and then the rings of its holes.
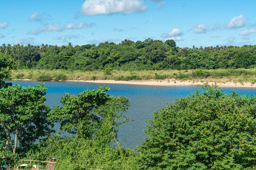
POLYGON ((256 68, 253 69, 211 69, 211 70, 44 70, 19 69, 12 70, 12 79, 31 79, 38 81, 59 80, 149 80, 149 79, 175 79, 192 82, 249 82, 256 83, 256 68))

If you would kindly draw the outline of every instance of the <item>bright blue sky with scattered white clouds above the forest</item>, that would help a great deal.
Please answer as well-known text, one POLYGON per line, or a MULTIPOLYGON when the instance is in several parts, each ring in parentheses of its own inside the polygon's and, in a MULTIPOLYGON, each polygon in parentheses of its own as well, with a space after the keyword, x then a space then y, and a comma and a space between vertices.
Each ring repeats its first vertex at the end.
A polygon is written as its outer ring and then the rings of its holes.
POLYGON ((256 44, 256 0, 1 0, 0 7, 0 44, 256 44))

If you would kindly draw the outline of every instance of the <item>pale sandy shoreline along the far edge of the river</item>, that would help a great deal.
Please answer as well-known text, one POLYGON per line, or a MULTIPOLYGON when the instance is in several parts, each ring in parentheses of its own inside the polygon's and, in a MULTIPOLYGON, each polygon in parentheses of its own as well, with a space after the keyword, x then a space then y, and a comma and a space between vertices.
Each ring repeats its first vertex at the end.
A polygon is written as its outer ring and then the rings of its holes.
MULTIPOLYGON (((37 81, 31 79, 11 79, 13 81, 37 81)), ((101 83, 101 84, 125 84, 125 85, 154 85, 154 86, 202 86, 204 83, 209 85, 218 85, 219 87, 238 87, 238 88, 256 88, 256 84, 252 85, 251 83, 215 83, 215 82, 193 82, 193 81, 180 81, 175 79, 165 80, 130 80, 130 81, 115 81, 115 80, 65 80, 60 82, 86 82, 86 83, 101 83)))

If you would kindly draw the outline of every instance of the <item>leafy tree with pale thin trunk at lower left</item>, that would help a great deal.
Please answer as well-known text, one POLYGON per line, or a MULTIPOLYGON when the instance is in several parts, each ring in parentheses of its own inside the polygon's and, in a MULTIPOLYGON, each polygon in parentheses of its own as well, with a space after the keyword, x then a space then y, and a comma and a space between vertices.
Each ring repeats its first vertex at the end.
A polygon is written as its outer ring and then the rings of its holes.
MULTIPOLYGON (((50 108, 45 105, 44 84, 23 87, 13 85, 0 89, 1 129, 6 128, 6 135, 14 137, 13 153, 19 142, 20 149, 29 148, 40 137, 52 132, 47 114, 50 108)), ((6 137, 6 136, 4 136, 6 137)), ((6 144, 9 139, 5 138, 6 144)))

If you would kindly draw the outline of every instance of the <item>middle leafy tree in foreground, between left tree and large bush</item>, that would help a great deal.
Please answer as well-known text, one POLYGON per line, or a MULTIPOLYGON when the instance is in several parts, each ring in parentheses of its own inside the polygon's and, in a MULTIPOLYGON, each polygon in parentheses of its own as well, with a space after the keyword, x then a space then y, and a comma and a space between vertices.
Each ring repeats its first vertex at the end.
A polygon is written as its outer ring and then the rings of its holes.
POLYGON ((109 145, 117 127, 128 119, 122 114, 129 106, 126 97, 113 97, 108 86, 87 89, 78 96, 66 93, 63 106, 54 107, 49 119, 61 129, 82 138, 94 138, 99 145, 109 145))

